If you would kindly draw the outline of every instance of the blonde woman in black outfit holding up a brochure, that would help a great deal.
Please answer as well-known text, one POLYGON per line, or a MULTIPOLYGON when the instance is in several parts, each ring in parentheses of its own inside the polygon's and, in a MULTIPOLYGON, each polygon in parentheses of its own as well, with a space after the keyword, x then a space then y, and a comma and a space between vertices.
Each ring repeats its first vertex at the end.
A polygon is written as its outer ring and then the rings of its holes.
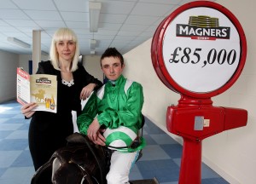
POLYGON ((102 82, 79 64, 79 42, 68 28, 58 29, 52 39, 48 61, 40 62, 37 73, 57 76, 57 113, 35 112, 35 103, 21 107, 29 127, 29 148, 35 170, 46 163, 53 152, 66 146, 66 137, 73 134, 72 111, 81 112, 80 100, 102 86, 102 82))

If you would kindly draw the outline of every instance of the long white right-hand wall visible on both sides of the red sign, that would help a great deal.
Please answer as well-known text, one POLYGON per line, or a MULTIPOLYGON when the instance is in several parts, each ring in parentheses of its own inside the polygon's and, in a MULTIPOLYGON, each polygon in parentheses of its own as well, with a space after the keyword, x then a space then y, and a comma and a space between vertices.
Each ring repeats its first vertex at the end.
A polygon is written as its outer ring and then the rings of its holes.
MULTIPOLYGON (((256 183, 256 53, 253 52, 256 49, 256 3, 254 0, 218 0, 217 3, 229 9, 241 22, 247 37, 247 61, 236 83, 223 94, 212 98, 213 105, 246 109, 248 121, 246 127, 205 139, 202 159, 231 184, 253 184, 256 183)), ((160 82, 154 72, 150 49, 151 39, 125 54, 124 74, 143 84, 143 113, 166 131, 166 108, 177 104, 180 96, 160 82)), ((180 137, 173 137, 182 143, 180 137)))

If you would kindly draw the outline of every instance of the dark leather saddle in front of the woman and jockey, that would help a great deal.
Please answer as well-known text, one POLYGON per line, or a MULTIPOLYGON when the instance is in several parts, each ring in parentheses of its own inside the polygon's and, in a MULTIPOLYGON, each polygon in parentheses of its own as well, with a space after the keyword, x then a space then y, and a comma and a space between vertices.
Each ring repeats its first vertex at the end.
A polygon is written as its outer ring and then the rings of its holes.
POLYGON ((31 184, 106 184, 111 152, 74 133, 33 175, 31 184))

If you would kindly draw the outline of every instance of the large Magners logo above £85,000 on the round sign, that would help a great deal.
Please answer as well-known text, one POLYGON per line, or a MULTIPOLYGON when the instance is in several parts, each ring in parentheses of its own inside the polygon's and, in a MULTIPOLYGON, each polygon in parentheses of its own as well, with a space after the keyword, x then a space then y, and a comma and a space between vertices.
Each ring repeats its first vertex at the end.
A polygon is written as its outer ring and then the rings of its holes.
POLYGON ((176 36, 200 40, 230 39, 230 27, 218 26, 218 18, 190 16, 189 25, 177 24, 176 36))

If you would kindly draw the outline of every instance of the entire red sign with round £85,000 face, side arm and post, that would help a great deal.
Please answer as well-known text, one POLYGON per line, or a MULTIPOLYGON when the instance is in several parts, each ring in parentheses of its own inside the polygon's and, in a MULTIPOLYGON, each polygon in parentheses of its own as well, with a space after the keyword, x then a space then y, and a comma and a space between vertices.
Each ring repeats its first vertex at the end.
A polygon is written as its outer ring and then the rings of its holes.
POLYGON ((203 139, 246 126, 246 110, 212 106, 211 100, 236 82, 246 55, 241 24, 218 3, 184 4, 154 33, 154 70, 166 87, 181 95, 166 112, 167 129, 183 137, 179 184, 201 183, 203 139))

